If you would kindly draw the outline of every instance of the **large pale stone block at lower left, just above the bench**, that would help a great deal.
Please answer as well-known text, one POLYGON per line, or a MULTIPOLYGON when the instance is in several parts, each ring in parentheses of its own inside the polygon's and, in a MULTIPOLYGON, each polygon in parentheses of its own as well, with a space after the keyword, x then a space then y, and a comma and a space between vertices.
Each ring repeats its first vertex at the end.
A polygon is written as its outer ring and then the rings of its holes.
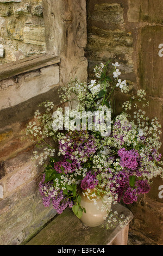
POLYGON ((20 191, 0 200, 1 245, 18 245, 51 220, 56 211, 45 208, 38 191, 37 180, 28 182, 20 191), (5 220, 5 221, 4 221, 5 220))

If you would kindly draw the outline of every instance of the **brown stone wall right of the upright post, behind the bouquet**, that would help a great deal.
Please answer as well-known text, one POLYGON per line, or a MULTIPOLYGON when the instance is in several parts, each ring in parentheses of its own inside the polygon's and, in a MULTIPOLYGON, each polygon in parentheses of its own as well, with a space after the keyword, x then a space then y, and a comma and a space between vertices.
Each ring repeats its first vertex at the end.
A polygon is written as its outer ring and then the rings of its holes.
MULTIPOLYGON (((159 0, 88 0, 86 46, 90 78, 97 63, 119 62, 121 77, 130 84, 130 93, 140 88, 146 90, 150 103, 147 114, 151 118, 158 117, 161 125, 162 9, 163 3, 159 0)), ((122 95, 116 95, 118 110, 124 100, 122 95)), ((160 185, 163 185, 163 180, 154 179, 148 196, 129 206, 134 214, 130 238, 135 244, 163 243, 163 199, 158 196, 160 185)))

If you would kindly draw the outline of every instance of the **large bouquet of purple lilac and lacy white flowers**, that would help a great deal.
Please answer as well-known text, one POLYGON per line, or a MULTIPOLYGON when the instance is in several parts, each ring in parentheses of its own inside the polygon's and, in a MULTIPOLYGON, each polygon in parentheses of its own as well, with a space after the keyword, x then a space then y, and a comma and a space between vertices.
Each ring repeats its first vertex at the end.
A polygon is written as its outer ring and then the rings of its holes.
POLYGON ((27 126, 27 135, 34 139, 57 143, 58 150, 48 144, 40 155, 34 151, 34 159, 40 164, 49 159, 39 190, 45 207, 52 202, 58 214, 69 206, 82 218, 82 194, 93 202, 102 199, 104 218, 115 219, 112 203, 136 202, 139 194, 149 192, 153 177, 162 176, 161 126, 156 118, 146 117, 146 93, 138 90, 115 115, 115 93, 129 92, 118 66, 101 63, 95 66, 95 80, 76 79, 60 88, 65 109, 53 112, 53 102, 43 102, 45 112, 36 111, 35 121, 27 126))

